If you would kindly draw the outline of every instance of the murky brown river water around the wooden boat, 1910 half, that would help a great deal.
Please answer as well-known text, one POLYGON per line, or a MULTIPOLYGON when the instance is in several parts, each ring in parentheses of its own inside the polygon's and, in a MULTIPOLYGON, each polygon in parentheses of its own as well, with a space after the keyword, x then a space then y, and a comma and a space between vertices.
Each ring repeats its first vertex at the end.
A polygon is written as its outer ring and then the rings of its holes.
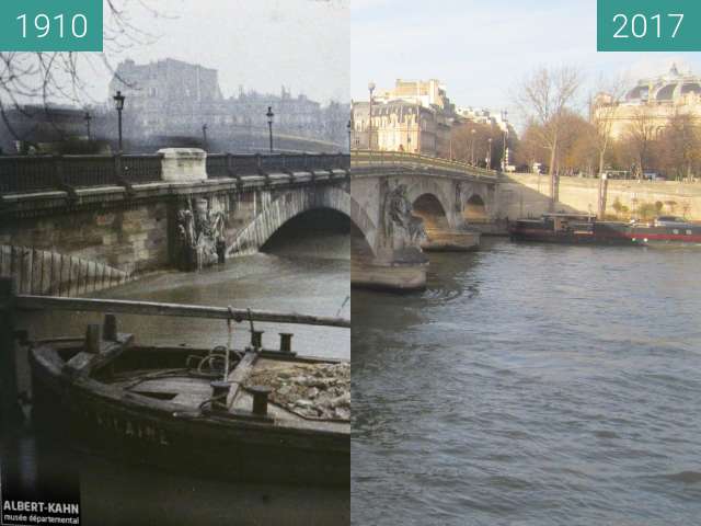
MULTIPOLYGON (((102 297, 237 308, 297 311, 349 317, 349 236, 338 218, 320 224, 313 215, 298 225, 284 227, 265 247, 266 253, 233 259, 225 266, 200 273, 163 272, 126 286, 100 293, 102 297), (300 228, 301 227, 301 228, 300 228)), ((25 316, 21 320, 34 339, 80 335, 85 324, 99 322, 97 315, 54 312, 25 316)), ((183 318, 119 317, 119 329, 133 332, 141 343, 191 344, 204 347, 226 344, 223 321, 183 318)), ((257 324, 267 332, 264 344, 275 348, 277 332, 294 332, 292 347, 300 354, 349 358, 350 331, 302 325, 257 324)), ((233 343, 249 342, 248 324, 233 332, 233 343)), ((23 361, 21 361, 23 362, 23 361)), ((27 366, 21 363, 22 387, 27 385, 27 366)), ((348 524, 350 503, 347 488, 294 488, 245 485, 179 476, 110 459, 77 454, 64 444, 55 448, 36 441, 31 426, 0 441, 5 470, 20 473, 15 481, 31 494, 47 485, 46 465, 58 471, 51 480, 78 480, 82 524, 163 525, 326 525, 348 524), (58 457, 58 460, 57 460, 58 457), (37 461, 37 459, 42 459, 37 461), (45 473, 44 483, 42 473, 45 473)), ((49 484, 50 485, 50 484, 49 484)), ((56 485, 56 484, 54 484, 56 485)), ((49 492, 54 491, 49 489, 49 492)), ((39 495, 41 498, 41 495, 39 495)), ((46 499, 45 499, 46 500, 46 499)))

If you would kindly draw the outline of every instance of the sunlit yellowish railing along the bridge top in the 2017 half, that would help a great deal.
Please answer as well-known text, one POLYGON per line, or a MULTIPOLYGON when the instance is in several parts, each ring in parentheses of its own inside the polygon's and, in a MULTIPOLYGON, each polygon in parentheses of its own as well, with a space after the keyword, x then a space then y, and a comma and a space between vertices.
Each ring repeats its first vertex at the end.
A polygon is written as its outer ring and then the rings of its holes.
POLYGON ((496 170, 473 167, 467 162, 451 161, 438 157, 427 157, 420 153, 407 153, 403 151, 353 150, 350 152, 350 165, 354 168, 370 165, 434 168, 459 172, 478 179, 497 179, 499 174, 496 170))

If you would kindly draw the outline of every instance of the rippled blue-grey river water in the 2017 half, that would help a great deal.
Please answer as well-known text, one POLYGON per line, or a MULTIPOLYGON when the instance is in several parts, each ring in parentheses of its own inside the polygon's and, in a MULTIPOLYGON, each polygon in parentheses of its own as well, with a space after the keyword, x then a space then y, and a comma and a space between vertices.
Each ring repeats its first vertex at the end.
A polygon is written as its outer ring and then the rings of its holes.
POLYGON ((354 290, 353 524, 700 524, 700 271, 486 240, 354 290))

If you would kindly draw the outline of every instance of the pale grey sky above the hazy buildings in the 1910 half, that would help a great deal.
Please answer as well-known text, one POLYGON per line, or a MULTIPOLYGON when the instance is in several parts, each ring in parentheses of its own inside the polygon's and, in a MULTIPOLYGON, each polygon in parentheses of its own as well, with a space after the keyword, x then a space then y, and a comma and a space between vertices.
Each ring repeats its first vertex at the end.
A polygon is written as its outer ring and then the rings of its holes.
MULTIPOLYGON (((219 70, 225 95, 248 91, 348 101, 350 83, 349 0, 123 0, 131 22, 158 37, 110 62, 176 58, 219 70)), ((90 93, 104 101, 108 76, 89 71, 90 93)))

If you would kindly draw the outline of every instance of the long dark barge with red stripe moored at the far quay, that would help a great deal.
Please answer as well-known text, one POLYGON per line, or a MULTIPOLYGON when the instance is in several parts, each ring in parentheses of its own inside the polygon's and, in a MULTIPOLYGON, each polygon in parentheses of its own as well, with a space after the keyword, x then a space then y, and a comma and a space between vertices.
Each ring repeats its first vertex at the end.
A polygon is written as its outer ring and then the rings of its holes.
POLYGON ((586 214, 543 214, 509 225, 514 241, 619 247, 701 247, 701 226, 677 217, 652 222, 599 221, 586 214))

